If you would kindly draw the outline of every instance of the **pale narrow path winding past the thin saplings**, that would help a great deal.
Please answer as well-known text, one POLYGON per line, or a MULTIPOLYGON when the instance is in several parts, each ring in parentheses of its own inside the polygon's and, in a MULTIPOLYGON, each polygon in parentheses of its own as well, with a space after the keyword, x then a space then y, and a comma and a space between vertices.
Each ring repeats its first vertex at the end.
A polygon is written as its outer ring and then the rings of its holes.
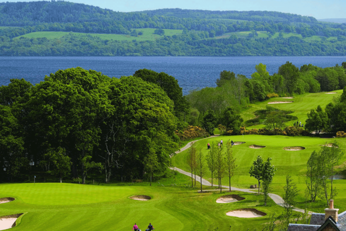
MULTIPOLYGON (((217 137, 217 136, 215 136, 215 135, 214 135, 214 136, 209 136, 209 137, 203 138, 203 139, 201 139, 201 140, 209 139, 209 138, 212 138, 212 137, 217 137)), ((179 151, 176 151, 175 154, 178 154, 178 153, 180 153, 180 152, 182 152, 182 151, 184 151, 184 150, 190 148, 192 142, 194 142, 194 141, 191 141, 191 142, 189 142, 188 144, 186 144, 186 145, 185 145, 183 148, 181 148, 179 151)), ((180 168, 177 168, 177 167, 171 167, 170 169, 175 170, 175 171, 178 171, 178 172, 180 172, 181 174, 184 174, 184 175, 186 175, 186 176, 190 176, 190 177, 191 177, 191 172, 186 172, 186 171, 184 171, 184 170, 182 170, 182 169, 180 169, 180 168)), ((194 174, 192 174, 192 177, 193 177, 193 178, 196 178, 196 181, 201 182, 201 178, 200 178, 199 176, 197 176, 197 175, 195 176, 194 174)), ((211 186, 211 183, 210 183, 208 180, 202 178, 202 185, 211 186)), ((245 189, 245 188, 229 187, 229 186, 225 186, 225 185, 221 185, 221 187, 223 187, 223 188, 228 188, 228 189, 230 188, 230 190, 235 190, 235 191, 240 191, 240 192, 245 192, 245 193, 256 193, 256 192, 254 192, 254 191, 252 191, 252 190, 250 190, 250 189, 245 189)), ((219 190, 219 189, 217 189, 217 190, 219 190)), ((209 191, 209 190, 208 190, 208 191, 209 191)), ((211 190, 210 190, 210 191, 211 191, 211 190)), ((270 194, 269 194, 269 197, 272 198, 272 200, 273 200, 277 205, 280 205, 280 206, 283 207, 284 201, 283 201, 283 199, 282 199, 281 196, 276 195, 276 194, 273 194, 273 193, 270 193, 270 194)), ((301 209, 301 208, 294 208, 293 210, 294 210, 294 211, 297 211, 297 212, 304 213, 304 210, 301 209)), ((309 214, 311 214, 311 213, 312 213, 312 212, 309 211, 309 214)))

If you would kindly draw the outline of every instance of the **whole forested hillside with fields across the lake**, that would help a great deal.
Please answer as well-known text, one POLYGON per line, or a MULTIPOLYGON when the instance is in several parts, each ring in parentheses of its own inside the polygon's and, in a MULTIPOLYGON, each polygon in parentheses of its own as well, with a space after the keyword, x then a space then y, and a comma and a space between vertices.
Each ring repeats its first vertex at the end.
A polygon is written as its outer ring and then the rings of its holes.
POLYGON ((3 2, 0 55, 344 56, 346 24, 275 11, 117 12, 65 1, 3 2))

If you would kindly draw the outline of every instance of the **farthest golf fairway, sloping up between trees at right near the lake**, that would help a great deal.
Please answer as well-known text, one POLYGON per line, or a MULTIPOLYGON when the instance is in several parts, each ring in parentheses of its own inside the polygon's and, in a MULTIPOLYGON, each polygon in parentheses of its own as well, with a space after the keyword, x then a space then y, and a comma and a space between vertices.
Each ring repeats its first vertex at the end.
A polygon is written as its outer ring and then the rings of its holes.
MULTIPOLYGON (((265 63, 264 63, 265 64, 265 63)), ((256 110, 265 109, 266 106, 274 107, 280 110, 291 110, 293 113, 290 115, 297 116, 298 120, 305 124, 306 119, 308 118, 307 114, 311 109, 316 109, 318 105, 322 109, 326 108, 326 105, 333 101, 334 97, 338 97, 343 93, 343 90, 336 90, 335 94, 326 94, 327 92, 318 92, 318 93, 309 93, 304 95, 293 96, 293 99, 285 99, 281 97, 270 98, 263 102, 257 102, 255 104, 249 104, 249 107, 244 110, 241 115, 244 121, 255 118, 254 112, 256 110), (293 103, 285 104, 268 104, 272 101, 293 101, 293 103)), ((286 122, 286 126, 293 126, 294 121, 286 122)), ((249 126, 247 129, 252 128, 261 128, 265 125, 259 124, 254 126, 249 126)))

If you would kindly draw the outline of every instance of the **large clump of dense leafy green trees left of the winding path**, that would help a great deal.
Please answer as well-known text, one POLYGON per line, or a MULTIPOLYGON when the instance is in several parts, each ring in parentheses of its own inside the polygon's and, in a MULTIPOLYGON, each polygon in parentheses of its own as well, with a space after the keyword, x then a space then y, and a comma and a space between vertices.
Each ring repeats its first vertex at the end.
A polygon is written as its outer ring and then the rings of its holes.
POLYGON ((138 70, 109 78, 82 68, 59 70, 35 86, 0 87, 1 180, 49 171, 60 181, 99 170, 105 182, 158 175, 177 150, 186 100, 177 80, 138 70))

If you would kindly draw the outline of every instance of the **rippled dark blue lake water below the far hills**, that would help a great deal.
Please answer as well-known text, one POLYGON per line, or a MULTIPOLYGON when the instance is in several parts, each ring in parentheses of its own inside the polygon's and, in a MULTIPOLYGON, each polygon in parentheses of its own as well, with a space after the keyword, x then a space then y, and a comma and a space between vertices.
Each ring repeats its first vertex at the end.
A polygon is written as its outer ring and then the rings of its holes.
POLYGON ((174 76, 183 93, 204 87, 215 87, 223 70, 250 78, 255 65, 263 63, 269 74, 277 72, 286 61, 300 68, 304 64, 325 68, 341 65, 346 56, 338 57, 0 57, 0 85, 8 85, 12 78, 24 78, 33 84, 59 69, 80 66, 102 72, 109 77, 133 75, 139 69, 151 69, 174 76))

